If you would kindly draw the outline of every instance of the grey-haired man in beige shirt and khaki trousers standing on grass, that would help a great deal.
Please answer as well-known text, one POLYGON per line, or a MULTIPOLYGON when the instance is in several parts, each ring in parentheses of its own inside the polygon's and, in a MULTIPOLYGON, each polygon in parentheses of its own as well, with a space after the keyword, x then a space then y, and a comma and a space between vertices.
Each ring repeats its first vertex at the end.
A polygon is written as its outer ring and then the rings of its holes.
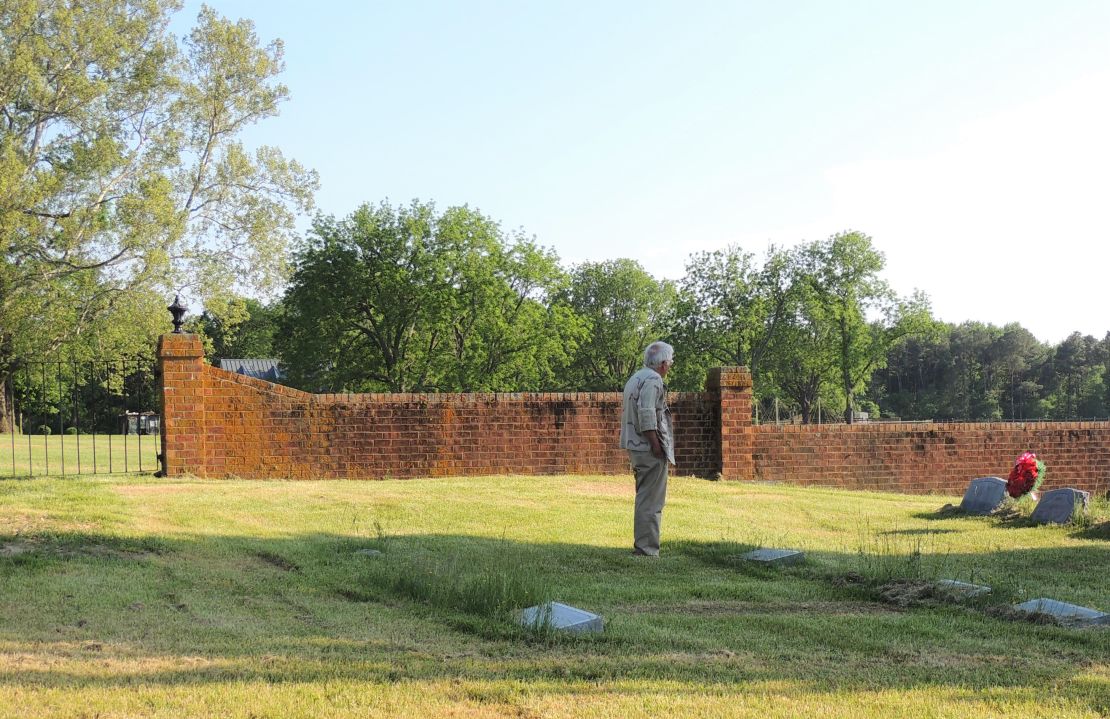
POLYGON ((675 462, 675 439, 664 377, 675 363, 675 348, 653 342, 644 366, 625 384, 620 446, 636 475, 633 554, 659 556, 659 520, 667 500, 667 467, 675 462))

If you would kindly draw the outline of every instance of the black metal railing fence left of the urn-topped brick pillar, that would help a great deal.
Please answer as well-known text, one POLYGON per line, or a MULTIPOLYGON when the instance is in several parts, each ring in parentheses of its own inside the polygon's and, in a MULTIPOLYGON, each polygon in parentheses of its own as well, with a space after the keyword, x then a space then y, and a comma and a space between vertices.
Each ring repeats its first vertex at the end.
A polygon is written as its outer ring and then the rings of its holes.
POLYGON ((2 386, 0 476, 159 468, 153 361, 30 362, 2 386))

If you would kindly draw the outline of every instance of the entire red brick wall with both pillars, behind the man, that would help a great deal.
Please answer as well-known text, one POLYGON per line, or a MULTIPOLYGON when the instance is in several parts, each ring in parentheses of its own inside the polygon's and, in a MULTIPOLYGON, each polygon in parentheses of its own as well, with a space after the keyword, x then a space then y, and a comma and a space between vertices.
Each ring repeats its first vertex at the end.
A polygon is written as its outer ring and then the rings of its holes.
MULTIPOLYGON (((620 395, 313 395, 204 363, 195 335, 159 343, 162 450, 170 475, 426 477, 625 474, 620 395)), ((751 377, 712 369, 703 393, 670 393, 676 474, 960 494, 1006 476, 1025 449, 1049 487, 1110 489, 1110 423, 751 424, 751 377)))

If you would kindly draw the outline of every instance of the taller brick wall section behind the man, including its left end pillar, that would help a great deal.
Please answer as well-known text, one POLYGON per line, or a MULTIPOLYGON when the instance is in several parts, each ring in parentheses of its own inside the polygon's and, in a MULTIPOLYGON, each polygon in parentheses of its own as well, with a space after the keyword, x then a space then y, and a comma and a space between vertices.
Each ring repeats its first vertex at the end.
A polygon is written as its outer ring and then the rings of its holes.
MULTIPOLYGON (((167 472, 210 477, 625 474, 619 393, 325 394, 203 364, 165 335, 167 472)), ((719 469, 718 402, 672 393, 677 474, 719 469)))

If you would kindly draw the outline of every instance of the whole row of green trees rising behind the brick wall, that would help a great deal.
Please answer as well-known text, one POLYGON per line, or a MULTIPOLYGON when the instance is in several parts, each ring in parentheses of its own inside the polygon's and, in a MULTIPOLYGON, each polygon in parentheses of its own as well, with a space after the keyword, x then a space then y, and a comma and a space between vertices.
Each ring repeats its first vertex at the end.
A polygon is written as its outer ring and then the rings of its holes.
POLYGON ((467 207, 383 203, 319 217, 293 265, 279 301, 194 320, 211 356, 276 356, 312 391, 615 391, 664 338, 673 389, 746 365, 799 422, 818 406, 826 422, 1110 416, 1110 333, 1051 346, 1018 324, 937 322, 858 232, 696 253, 666 281, 630 259, 565 269, 467 207))

